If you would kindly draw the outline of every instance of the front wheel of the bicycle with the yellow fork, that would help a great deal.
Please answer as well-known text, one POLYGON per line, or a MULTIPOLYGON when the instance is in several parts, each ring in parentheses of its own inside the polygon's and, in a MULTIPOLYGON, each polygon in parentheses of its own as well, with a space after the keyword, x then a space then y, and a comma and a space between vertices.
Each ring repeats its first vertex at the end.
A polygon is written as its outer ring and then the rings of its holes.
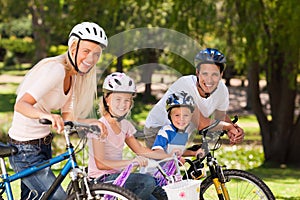
MULTIPOLYGON (((230 200, 242 199, 275 199, 269 187, 255 175, 236 169, 224 170, 226 178, 225 186, 228 190, 230 200)), ((218 199, 212 177, 207 177, 200 187, 200 199, 218 199)))

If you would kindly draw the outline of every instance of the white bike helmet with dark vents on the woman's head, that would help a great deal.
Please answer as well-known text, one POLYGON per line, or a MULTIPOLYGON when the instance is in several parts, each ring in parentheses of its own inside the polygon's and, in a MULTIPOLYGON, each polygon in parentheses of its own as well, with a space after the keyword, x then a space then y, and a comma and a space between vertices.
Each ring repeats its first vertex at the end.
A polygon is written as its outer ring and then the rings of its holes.
POLYGON ((75 39, 89 40, 107 47, 107 37, 104 30, 96 23, 82 22, 73 27, 69 34, 68 46, 70 47, 75 39))

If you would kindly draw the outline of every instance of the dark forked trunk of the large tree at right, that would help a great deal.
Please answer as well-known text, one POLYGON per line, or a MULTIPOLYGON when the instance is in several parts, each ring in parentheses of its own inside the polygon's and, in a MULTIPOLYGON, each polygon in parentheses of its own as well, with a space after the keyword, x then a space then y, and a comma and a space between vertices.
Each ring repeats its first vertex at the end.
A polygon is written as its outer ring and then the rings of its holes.
MULTIPOLYGON (((281 70, 273 67, 272 70, 281 70)), ((300 142, 299 120, 293 124, 296 90, 288 87, 290 77, 282 74, 286 72, 272 72, 280 77, 271 77, 267 82, 271 104, 271 117, 268 120, 260 100, 259 64, 252 63, 249 69, 249 89, 252 94, 253 111, 260 126, 265 164, 291 164, 300 166, 298 147, 300 142), (284 88, 284 89, 281 89, 284 88), (275 94, 275 95, 274 95, 275 94)))

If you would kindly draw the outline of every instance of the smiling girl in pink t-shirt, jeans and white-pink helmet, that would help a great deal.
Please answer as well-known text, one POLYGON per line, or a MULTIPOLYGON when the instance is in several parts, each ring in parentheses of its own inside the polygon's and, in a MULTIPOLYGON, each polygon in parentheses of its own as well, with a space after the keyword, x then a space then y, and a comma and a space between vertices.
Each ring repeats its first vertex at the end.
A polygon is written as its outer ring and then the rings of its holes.
MULTIPOLYGON (((105 124, 108 136, 105 140, 92 138, 89 141, 88 173, 96 181, 116 179, 122 168, 132 162, 139 166, 147 165, 147 158, 164 159, 171 155, 155 152, 142 146, 134 137, 134 126, 126 120, 133 106, 136 88, 133 80, 124 73, 108 75, 103 83, 103 98, 100 101, 99 119, 105 124), (125 143, 137 154, 134 159, 123 160, 125 143)), ((125 188, 136 193, 141 199, 156 199, 152 192, 156 187, 155 179, 147 174, 131 173, 125 182, 125 188)))

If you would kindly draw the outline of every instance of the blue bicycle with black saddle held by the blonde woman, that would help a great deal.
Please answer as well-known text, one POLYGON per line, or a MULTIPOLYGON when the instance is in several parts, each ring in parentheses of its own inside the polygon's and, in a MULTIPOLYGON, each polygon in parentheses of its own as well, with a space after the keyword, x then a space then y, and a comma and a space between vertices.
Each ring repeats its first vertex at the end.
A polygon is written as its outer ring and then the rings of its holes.
MULTIPOLYGON (((46 119, 40 120, 40 123, 51 125, 51 121, 46 119)), ((6 193, 8 200, 14 199, 11 188, 11 183, 13 181, 20 180, 21 178, 34 174, 46 167, 50 167, 64 160, 67 160, 67 162, 60 170, 56 180, 53 182, 49 190, 43 193, 40 199, 46 200, 51 198, 52 194, 56 191, 56 188, 62 183, 68 174, 70 174, 73 191, 71 194, 68 194, 67 199, 138 199, 131 191, 113 184, 90 184, 86 172, 79 168, 76 161, 76 154, 79 151, 75 151, 76 148, 73 147, 70 141, 70 136, 74 133, 81 134, 81 137, 82 134, 86 136, 87 133, 99 135, 99 132, 99 128, 95 125, 66 121, 64 126, 66 152, 12 175, 7 173, 5 158, 16 154, 18 149, 14 145, 0 143, 0 165, 2 171, 0 177, 0 200, 4 199, 4 193, 6 193)))

